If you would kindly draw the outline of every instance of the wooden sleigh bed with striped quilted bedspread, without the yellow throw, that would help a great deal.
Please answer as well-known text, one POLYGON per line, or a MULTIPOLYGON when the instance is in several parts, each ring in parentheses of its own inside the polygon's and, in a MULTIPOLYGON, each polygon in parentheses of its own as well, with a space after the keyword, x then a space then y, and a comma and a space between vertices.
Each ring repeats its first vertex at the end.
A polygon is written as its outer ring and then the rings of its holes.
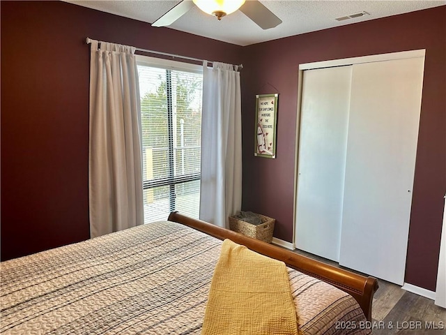
POLYGON ((282 260, 304 334, 371 334, 376 279, 178 213, 1 263, 1 334, 200 334, 223 239, 282 260))

